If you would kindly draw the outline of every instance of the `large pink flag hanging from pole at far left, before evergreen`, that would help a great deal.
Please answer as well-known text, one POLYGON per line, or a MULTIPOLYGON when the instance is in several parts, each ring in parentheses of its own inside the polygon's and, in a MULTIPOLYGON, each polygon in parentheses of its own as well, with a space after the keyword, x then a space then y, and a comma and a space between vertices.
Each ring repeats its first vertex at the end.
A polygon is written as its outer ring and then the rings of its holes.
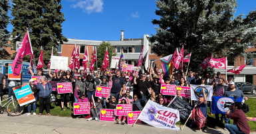
POLYGON ((19 74, 21 74, 21 65, 23 62, 23 57, 30 54, 33 54, 33 50, 29 39, 29 32, 27 32, 13 60, 13 65, 11 66, 11 70, 13 70, 13 76, 19 76, 19 74))

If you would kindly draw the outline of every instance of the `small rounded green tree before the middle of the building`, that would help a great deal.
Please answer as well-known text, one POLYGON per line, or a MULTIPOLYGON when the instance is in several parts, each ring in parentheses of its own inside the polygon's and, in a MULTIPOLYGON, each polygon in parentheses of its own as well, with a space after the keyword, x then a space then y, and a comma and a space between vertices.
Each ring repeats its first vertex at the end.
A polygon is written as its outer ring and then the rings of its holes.
POLYGON ((111 46, 110 42, 102 41, 102 43, 100 43, 100 46, 97 49, 98 68, 101 68, 103 64, 103 60, 106 53, 106 47, 108 47, 109 66, 111 64, 112 56, 116 56, 116 53, 114 53, 114 48, 111 46))

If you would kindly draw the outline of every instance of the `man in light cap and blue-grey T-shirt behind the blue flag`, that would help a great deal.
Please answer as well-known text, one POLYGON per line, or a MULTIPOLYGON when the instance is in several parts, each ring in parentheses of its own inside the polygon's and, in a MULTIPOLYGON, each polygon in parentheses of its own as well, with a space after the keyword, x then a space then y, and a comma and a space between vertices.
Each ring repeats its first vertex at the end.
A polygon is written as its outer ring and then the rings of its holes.
MULTIPOLYGON (((225 91, 223 94, 224 97, 231 97, 231 98, 239 98, 243 97, 244 100, 248 100, 248 98, 243 94, 241 90, 235 89, 235 82, 229 82, 229 90, 225 91)), ((230 124, 230 119, 224 115, 223 120, 225 123, 230 124)))

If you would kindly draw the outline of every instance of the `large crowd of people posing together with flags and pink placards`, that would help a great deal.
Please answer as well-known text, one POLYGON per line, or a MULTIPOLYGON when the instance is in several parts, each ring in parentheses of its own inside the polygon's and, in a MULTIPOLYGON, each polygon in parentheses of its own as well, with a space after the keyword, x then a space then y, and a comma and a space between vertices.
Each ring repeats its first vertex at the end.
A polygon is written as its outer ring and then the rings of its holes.
MULTIPOLYGON (((153 63, 153 62, 152 62, 153 63)), ((223 96, 226 97, 244 97, 245 100, 247 98, 244 96, 241 90, 238 90, 233 82, 233 78, 228 78, 224 80, 221 78, 221 73, 217 72, 217 76, 212 76, 210 78, 209 73, 203 74, 201 78, 199 78, 199 73, 193 72, 190 70, 188 72, 184 72, 183 70, 174 72, 170 76, 164 76, 165 72, 160 72, 160 68, 151 66, 146 70, 144 69, 144 73, 142 73, 142 68, 138 70, 138 74, 136 71, 134 72, 121 72, 120 70, 110 70, 107 68, 105 71, 101 71, 100 68, 97 68, 97 71, 84 72, 84 70, 59 70, 59 72, 51 73, 49 70, 49 76, 51 77, 51 81, 57 82, 72 82, 72 92, 68 94, 60 94, 61 96, 61 111, 64 109, 64 101, 66 101, 66 108, 70 109, 69 103, 74 102, 88 102, 91 100, 92 96, 96 99, 94 109, 91 109, 92 116, 80 115, 78 117, 88 117, 88 121, 95 119, 98 120, 98 115, 100 114, 101 108, 107 109, 116 109, 116 105, 119 103, 118 100, 121 99, 120 103, 132 103, 133 111, 141 111, 146 105, 148 100, 155 101, 160 105, 167 106, 168 103, 172 101, 174 96, 164 96, 161 94, 161 85, 176 85, 176 86, 187 86, 190 87, 193 85, 211 85, 214 90, 219 90, 220 88, 224 88, 225 92, 223 96), (95 97, 96 86, 106 86, 110 87, 109 82, 112 82, 111 92, 107 98, 104 96, 100 98, 95 97), (126 87, 133 88, 133 90, 126 90, 126 87), (133 96, 130 96, 131 92, 133 96), (128 101, 126 101, 128 100, 128 101), (133 100, 130 102, 129 100, 133 100)), ((38 70, 37 74, 34 74, 32 70, 30 70, 32 76, 42 76, 40 82, 37 82, 35 85, 35 81, 33 79, 29 80, 29 85, 31 86, 31 90, 33 92, 33 96, 35 99, 39 101, 39 116, 42 115, 43 107, 46 105, 47 115, 51 115, 50 105, 56 105, 56 100, 51 100, 52 98, 57 98, 58 92, 53 91, 53 86, 49 84, 49 80, 43 74, 43 71, 38 70)), ((1 82, 1 80, 0 80, 1 82)), ((15 87, 15 84, 12 84, 13 80, 9 80, 9 87, 15 87)), ((9 90, 9 96, 11 96, 12 90, 9 90)), ((199 109, 203 113, 205 117, 207 117, 207 112, 213 115, 210 111, 207 111, 208 105, 211 107, 211 101, 206 100, 206 96, 203 92, 199 96, 197 102, 193 102, 190 99, 184 98, 181 96, 181 91, 177 90, 176 96, 181 98, 188 103, 192 103, 192 105, 198 104, 199 109)), ((33 114, 35 115, 36 110, 36 102, 30 103, 28 106, 27 115, 31 115, 31 107, 33 107, 33 114)), ((247 123, 245 114, 241 112, 241 103, 235 102, 231 107, 229 107, 230 111, 228 111, 225 115, 221 115, 219 118, 219 114, 215 114, 216 121, 219 123, 223 123, 225 121, 225 128, 231 133, 249 133, 249 125, 247 123), (235 125, 230 124, 230 119, 234 120, 235 125), (245 119, 244 119, 245 118, 245 119)), ((64 111, 63 111, 64 112, 64 111)), ((125 124, 126 116, 119 116, 116 119, 116 123, 125 124)), ((224 123, 223 123, 224 124, 224 123)), ((190 124, 190 127, 197 127, 194 121, 190 124)), ((203 127, 204 129, 205 127, 203 127)))

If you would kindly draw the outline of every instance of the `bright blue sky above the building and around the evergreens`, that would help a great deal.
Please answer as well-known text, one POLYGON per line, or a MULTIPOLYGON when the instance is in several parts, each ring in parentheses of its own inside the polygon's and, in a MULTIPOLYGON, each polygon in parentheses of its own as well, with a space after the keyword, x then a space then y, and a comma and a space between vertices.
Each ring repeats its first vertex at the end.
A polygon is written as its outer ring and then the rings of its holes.
MULTIPOLYGON (((255 10, 255 0, 237 0, 235 16, 255 10)), ((142 38, 144 34, 156 34, 156 2, 153 0, 62 0, 64 18, 63 35, 82 40, 120 40, 142 38)), ((8 31, 12 31, 11 24, 8 31)))

